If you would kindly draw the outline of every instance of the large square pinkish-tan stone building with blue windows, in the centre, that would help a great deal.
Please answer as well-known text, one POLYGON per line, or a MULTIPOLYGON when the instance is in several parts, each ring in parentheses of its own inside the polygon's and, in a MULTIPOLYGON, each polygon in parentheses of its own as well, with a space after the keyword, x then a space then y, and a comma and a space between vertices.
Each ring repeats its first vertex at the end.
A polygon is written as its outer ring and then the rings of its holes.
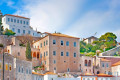
POLYGON ((40 49, 40 54, 33 53, 33 56, 45 65, 46 71, 56 73, 80 71, 79 38, 49 33, 34 42, 33 47, 40 49))

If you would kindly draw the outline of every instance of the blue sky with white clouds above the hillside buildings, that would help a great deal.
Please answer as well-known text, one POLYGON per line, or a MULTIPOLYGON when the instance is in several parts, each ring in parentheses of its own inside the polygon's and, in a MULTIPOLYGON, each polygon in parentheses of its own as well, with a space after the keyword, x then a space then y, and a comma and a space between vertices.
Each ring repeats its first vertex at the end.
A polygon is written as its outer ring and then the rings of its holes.
POLYGON ((29 17, 30 25, 40 32, 79 38, 113 32, 120 42, 119 0, 0 0, 0 10, 29 17))

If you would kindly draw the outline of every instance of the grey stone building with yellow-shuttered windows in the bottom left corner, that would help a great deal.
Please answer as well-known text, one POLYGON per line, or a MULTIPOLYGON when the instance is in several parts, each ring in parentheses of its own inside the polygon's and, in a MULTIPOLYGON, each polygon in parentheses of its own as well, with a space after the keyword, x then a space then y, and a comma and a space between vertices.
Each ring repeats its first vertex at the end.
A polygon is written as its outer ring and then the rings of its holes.
MULTIPOLYGON (((3 55, 0 54, 0 80, 3 79, 3 55)), ((4 80, 32 80, 32 63, 4 53, 4 80)))

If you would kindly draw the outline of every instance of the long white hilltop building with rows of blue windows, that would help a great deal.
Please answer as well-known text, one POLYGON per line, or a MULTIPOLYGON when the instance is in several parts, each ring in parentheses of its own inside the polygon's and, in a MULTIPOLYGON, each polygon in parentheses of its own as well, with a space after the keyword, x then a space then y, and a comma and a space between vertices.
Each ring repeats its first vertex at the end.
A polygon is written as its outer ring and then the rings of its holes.
POLYGON ((36 37, 41 36, 40 33, 37 33, 37 31, 34 31, 30 27, 30 18, 6 14, 2 18, 2 25, 4 29, 7 28, 15 32, 16 36, 25 34, 30 34, 36 37))

